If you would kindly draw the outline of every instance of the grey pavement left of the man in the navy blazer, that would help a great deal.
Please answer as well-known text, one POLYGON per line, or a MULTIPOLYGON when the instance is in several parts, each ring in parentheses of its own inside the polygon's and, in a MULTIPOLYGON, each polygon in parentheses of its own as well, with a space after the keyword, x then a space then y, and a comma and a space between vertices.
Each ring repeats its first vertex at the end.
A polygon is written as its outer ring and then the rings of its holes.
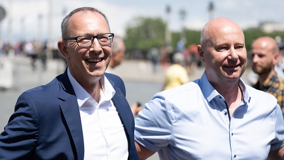
MULTIPOLYGON (((42 72, 41 68, 33 71, 30 65, 30 59, 27 57, 6 58, 5 61, 11 63, 13 74, 12 86, 10 88, 3 88, 0 83, 0 132, 13 113, 14 105, 22 92, 52 80, 57 75, 57 72, 60 72, 57 71, 57 68, 60 69, 61 72, 64 71, 64 63, 59 61, 59 63, 57 63, 57 61, 48 62, 48 68, 44 72, 42 72)), ((2 70, 0 70, 0 72, 1 71, 2 70)), ((0 79, 5 80, 6 78, 0 77, 0 79)))

